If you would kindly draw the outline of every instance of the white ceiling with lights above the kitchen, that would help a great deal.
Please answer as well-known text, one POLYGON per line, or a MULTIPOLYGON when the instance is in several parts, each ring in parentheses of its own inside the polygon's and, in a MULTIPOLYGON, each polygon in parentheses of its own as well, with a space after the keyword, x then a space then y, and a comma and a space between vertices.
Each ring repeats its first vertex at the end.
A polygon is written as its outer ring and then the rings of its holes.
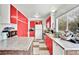
POLYGON ((56 10, 56 17, 77 6, 77 4, 13 4, 25 16, 32 18, 36 13, 46 18, 51 10, 56 10))

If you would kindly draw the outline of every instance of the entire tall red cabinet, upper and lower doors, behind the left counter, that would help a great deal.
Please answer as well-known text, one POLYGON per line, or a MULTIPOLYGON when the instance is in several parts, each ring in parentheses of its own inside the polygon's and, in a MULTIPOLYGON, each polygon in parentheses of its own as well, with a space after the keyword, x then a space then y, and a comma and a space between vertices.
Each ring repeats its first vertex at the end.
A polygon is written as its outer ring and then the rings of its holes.
POLYGON ((20 11, 18 11, 18 36, 27 37, 28 36, 28 18, 25 17, 20 11))

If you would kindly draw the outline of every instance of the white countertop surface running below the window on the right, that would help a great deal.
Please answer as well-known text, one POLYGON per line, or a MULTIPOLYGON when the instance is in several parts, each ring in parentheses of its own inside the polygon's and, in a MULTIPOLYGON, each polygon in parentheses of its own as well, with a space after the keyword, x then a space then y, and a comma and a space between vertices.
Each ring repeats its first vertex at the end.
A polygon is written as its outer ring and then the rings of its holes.
POLYGON ((62 40, 60 38, 54 38, 52 34, 46 33, 53 41, 58 43, 64 50, 79 50, 79 44, 74 44, 72 42, 68 42, 62 40))

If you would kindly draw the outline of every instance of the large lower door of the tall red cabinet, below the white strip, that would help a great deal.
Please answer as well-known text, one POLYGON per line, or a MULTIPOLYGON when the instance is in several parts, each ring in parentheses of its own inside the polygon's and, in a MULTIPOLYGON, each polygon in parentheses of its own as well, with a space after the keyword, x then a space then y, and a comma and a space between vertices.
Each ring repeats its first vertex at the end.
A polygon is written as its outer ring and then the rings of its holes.
POLYGON ((18 21, 18 36, 19 37, 28 36, 28 24, 18 21))

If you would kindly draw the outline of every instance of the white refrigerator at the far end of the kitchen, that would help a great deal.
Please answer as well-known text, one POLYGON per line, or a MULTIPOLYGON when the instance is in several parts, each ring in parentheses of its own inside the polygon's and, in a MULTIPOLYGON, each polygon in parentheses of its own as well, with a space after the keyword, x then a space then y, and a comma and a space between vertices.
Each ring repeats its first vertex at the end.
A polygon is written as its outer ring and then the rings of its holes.
POLYGON ((35 25, 35 39, 42 39, 42 25, 35 25))

